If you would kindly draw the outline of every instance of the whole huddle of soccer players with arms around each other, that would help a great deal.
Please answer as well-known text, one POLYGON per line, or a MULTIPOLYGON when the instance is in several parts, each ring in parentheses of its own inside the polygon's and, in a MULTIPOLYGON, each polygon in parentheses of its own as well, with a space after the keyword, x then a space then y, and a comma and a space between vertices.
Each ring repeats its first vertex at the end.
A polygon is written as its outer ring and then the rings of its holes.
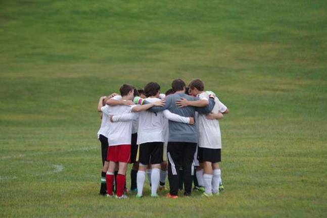
POLYGON ((144 89, 122 85, 120 94, 103 96, 98 103, 102 145, 100 194, 127 198, 126 170, 131 163, 130 193, 143 197, 146 174, 151 197, 165 189, 168 198, 178 198, 194 190, 211 197, 223 190, 221 180, 221 135, 219 121, 228 108, 215 93, 205 91, 200 79, 188 87, 181 79, 160 93, 160 85, 148 83, 144 89), (168 164, 167 164, 168 163, 168 164))

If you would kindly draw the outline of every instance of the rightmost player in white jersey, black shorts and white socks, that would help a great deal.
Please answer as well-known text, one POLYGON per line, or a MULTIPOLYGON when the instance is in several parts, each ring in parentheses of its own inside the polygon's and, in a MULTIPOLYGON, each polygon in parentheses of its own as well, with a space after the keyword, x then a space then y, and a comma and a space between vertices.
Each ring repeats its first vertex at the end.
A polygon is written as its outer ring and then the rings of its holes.
MULTIPOLYGON (((192 80, 190 93, 198 96, 200 100, 208 100, 209 94, 204 91, 204 83, 200 79, 192 80)), ((182 99, 177 103, 179 106, 190 106, 194 102, 182 99)), ((208 115, 199 114, 196 118, 199 130, 198 157, 202 164, 204 174, 204 196, 210 197, 212 194, 219 194, 219 184, 221 183, 221 171, 218 162, 221 161, 221 134, 218 119, 223 117, 223 113, 228 113, 228 108, 215 96, 215 106, 208 115)))

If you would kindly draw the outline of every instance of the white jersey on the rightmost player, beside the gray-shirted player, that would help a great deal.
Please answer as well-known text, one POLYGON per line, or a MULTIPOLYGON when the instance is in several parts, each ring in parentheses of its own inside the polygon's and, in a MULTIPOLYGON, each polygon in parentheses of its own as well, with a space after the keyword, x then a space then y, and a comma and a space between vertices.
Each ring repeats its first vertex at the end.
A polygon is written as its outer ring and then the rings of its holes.
MULTIPOLYGON (((199 99, 209 99, 209 95, 206 92, 202 92, 199 99)), ((215 97, 215 106, 212 113, 225 112, 227 107, 215 97)), ((198 145, 203 148, 221 148, 221 134, 218 120, 208 120, 203 114, 197 116, 198 123, 198 145)))

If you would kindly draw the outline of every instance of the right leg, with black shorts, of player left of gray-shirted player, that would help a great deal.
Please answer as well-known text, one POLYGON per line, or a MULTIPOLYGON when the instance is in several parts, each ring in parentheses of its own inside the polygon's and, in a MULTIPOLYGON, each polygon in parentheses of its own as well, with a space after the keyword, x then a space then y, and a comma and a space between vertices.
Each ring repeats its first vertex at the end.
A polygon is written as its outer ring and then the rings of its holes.
POLYGON ((153 142, 151 148, 151 197, 158 197, 157 189, 160 182, 160 163, 163 161, 163 142, 153 142))

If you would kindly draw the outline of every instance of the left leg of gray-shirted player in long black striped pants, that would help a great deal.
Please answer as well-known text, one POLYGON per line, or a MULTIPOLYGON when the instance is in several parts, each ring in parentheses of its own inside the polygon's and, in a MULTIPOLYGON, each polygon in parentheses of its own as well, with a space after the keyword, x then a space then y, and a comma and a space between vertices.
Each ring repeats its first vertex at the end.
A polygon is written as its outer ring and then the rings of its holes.
POLYGON ((178 194, 179 175, 178 169, 182 165, 182 142, 168 142, 168 180, 169 195, 167 197, 176 197, 178 194))

